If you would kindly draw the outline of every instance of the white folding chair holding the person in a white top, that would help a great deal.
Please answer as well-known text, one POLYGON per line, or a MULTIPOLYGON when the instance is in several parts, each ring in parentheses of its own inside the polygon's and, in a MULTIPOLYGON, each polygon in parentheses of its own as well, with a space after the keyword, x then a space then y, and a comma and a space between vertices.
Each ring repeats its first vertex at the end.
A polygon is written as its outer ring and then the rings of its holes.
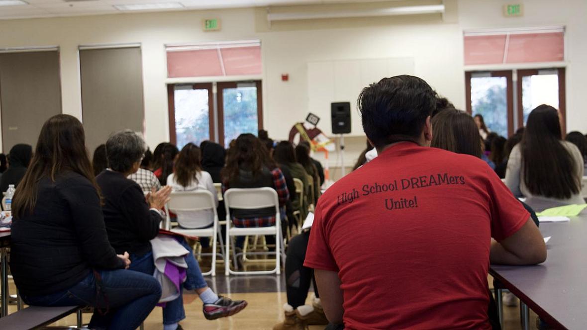
MULTIPOLYGON (((212 227, 204 229, 187 229, 188 224, 182 224, 181 218, 178 217, 178 223, 183 228, 170 229, 171 232, 180 233, 190 236, 204 236, 212 237, 212 267, 210 271, 202 273, 202 275, 216 275, 216 244, 218 237, 218 214, 216 212, 216 205, 214 203, 214 195, 208 190, 198 190, 195 192, 174 192, 170 195, 170 200, 165 205, 165 212, 167 213, 166 227, 170 226, 169 212, 191 212, 198 210, 212 210, 214 213, 214 223, 212 227)), ((222 239, 222 238, 221 238, 222 239)), ((226 260, 224 248, 221 244, 222 258, 226 260)))

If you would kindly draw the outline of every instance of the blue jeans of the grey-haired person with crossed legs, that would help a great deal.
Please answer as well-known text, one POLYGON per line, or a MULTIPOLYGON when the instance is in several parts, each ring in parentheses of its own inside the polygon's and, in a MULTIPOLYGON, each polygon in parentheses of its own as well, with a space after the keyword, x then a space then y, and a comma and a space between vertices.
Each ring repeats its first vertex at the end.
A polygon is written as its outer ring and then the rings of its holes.
MULTIPOLYGON (((188 255, 185 256, 185 263, 187 263, 187 271, 185 282, 183 287, 185 290, 196 290, 205 288, 208 286, 198 261, 195 260, 193 250, 184 239, 177 239, 177 241, 189 251, 188 255)), ((141 273, 153 275, 155 273, 155 264, 153 261, 153 252, 150 251, 143 256, 130 255, 130 269, 134 271, 140 271, 141 273)), ((168 301, 163 308, 163 324, 174 324, 185 318, 185 310, 183 307, 183 294, 180 292, 180 296, 176 300, 168 301)))

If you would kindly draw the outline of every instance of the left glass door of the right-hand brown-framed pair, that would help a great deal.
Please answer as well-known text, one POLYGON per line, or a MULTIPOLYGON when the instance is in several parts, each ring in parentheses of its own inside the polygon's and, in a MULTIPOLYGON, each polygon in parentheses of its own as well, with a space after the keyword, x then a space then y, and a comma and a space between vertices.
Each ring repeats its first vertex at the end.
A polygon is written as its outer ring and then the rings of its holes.
POLYGON ((465 72, 467 112, 483 115, 490 131, 502 137, 514 134, 511 71, 465 72))

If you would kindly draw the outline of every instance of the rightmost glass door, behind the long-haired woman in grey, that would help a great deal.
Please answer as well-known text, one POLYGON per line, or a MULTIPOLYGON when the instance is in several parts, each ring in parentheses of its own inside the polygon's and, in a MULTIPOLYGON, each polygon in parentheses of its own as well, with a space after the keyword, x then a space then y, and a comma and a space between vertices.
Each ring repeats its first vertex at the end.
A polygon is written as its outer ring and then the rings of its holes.
POLYGON ((565 69, 518 70, 518 126, 526 125, 528 115, 541 104, 561 112, 565 132, 565 69))

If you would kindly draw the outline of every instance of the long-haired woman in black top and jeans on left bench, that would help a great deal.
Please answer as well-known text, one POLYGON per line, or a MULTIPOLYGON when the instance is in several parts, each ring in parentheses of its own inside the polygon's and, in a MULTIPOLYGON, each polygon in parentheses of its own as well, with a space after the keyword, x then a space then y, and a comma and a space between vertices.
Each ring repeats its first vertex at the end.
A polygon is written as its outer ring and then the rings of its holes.
POLYGON ((41 129, 12 203, 10 267, 22 299, 91 306, 92 329, 136 329, 161 297, 152 274, 124 270, 108 242, 82 124, 60 114, 41 129))

